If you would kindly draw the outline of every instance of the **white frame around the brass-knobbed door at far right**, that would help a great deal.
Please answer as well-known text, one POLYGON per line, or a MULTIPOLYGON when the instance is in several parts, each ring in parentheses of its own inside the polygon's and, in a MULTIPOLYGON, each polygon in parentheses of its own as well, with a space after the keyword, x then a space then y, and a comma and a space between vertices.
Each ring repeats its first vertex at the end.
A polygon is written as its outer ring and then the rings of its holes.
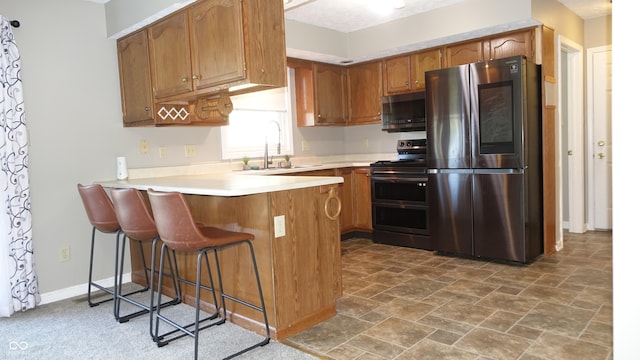
MULTIPOLYGON (((593 53, 603 52, 603 51, 612 51, 611 45, 598 46, 587 49, 587 106, 592 107, 593 105, 593 53)), ((591 156, 587 157, 587 229, 595 230, 596 218, 595 218, 595 198, 596 198, 596 189, 595 189, 595 149, 593 143, 594 139, 594 128, 595 128, 595 118, 593 116, 593 111, 587 111, 587 149, 586 154, 591 154, 591 156)))

